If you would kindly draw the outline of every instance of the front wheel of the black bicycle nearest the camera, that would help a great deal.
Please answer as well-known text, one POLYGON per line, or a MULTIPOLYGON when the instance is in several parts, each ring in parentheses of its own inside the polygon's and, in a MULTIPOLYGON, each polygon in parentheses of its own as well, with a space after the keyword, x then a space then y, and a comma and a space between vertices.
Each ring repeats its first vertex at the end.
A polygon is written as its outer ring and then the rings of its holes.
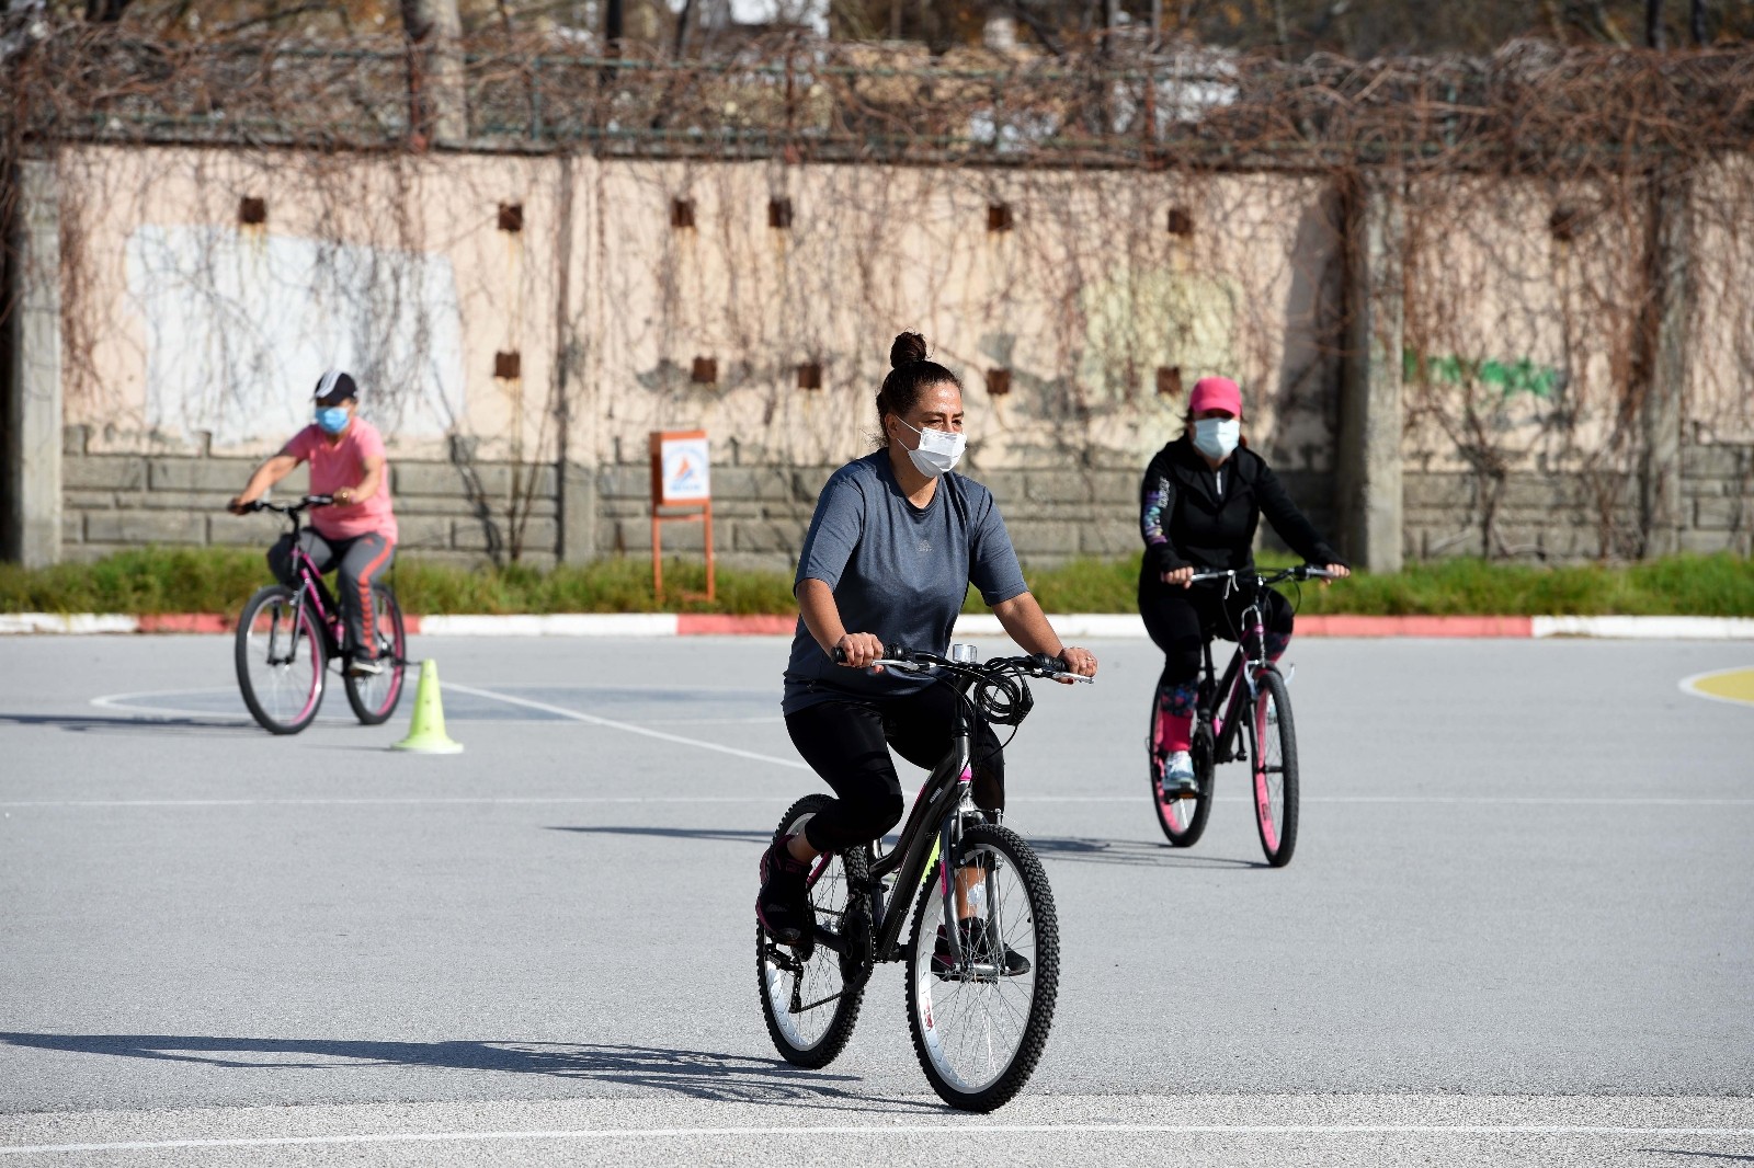
MULTIPOLYGON (((931 965, 931 952, 938 937, 938 922, 944 919, 945 880, 942 875, 928 879, 919 893, 914 908, 914 935, 907 952, 907 1024, 914 1036, 914 1052, 919 1066, 926 1072, 931 1089, 951 1107, 965 1112, 991 1112, 1010 1101, 1030 1080, 1035 1065, 1047 1045, 1047 1033, 1054 1024, 1054 1000, 1059 991, 1059 924, 1054 914, 1054 893, 1047 884, 1042 861, 1016 831, 996 824, 970 828, 959 844, 958 861, 984 863, 991 859, 991 877, 986 886, 998 891, 1003 887, 1000 873, 1014 873, 1017 893, 1023 903, 1017 905, 1012 893, 1000 893, 996 907, 989 900, 982 908, 989 929, 996 928, 1005 947, 1028 940, 1028 951, 1017 949, 1030 959, 1031 966, 1023 975, 1005 975, 998 968, 1005 958, 989 949, 993 958, 986 963, 988 975, 968 973, 966 977, 940 977, 931 965), (1010 900, 1012 912, 1005 912, 1010 900), (1016 910, 1024 912, 1026 921, 1017 922, 1016 910), (991 922, 998 924, 993 926, 991 922), (1028 933, 1024 931, 1028 929, 1028 933), (952 989, 945 991, 949 986, 952 989), (970 989, 986 987, 986 989, 970 989), (1016 987, 1009 1000, 1005 991, 1016 987), (1026 1008, 1019 1010, 1016 998, 1026 993, 1026 1008), (965 1003, 959 1001, 966 994, 965 1003), (1000 1008, 993 1008, 1000 1007, 1000 1008), (968 1035, 958 1040, 958 1015, 966 1017, 968 1035), (996 1022, 1014 1024, 1016 1040, 1010 1052, 1000 1050, 995 1061, 996 1022), (972 1042, 979 1038, 979 1042, 972 1042), (956 1047, 956 1050, 952 1050, 956 1047), (986 1052, 984 1066, 982 1050, 986 1052), (966 1058, 966 1070, 956 1066, 958 1056, 966 1058)), ((968 866, 959 863, 958 866, 968 866)), ((938 870, 942 873, 942 868, 938 870)), ((1000 1035, 1003 1043, 1005 1036, 1000 1035)))

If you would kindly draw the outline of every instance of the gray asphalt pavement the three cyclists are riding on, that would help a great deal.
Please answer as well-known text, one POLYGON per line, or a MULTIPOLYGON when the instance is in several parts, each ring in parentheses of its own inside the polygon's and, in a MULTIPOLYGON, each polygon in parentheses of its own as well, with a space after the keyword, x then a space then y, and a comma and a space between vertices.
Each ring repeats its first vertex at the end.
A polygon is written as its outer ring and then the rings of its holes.
POLYGON ((1677 686, 1754 645, 1300 642, 1284 870, 1237 768, 1166 847, 1159 661, 1093 647, 1009 754, 1052 1036, 961 1117, 896 966, 768 1045, 782 640, 414 638, 446 758, 263 733, 225 638, 0 640, 0 1164, 1754 1159, 1754 707, 1677 686))

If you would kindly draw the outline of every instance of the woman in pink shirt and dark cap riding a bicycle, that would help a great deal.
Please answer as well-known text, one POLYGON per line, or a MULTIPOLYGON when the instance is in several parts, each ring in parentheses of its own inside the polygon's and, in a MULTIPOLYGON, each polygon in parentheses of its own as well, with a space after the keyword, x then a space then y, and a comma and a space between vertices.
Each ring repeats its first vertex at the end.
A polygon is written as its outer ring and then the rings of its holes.
MULTIPOLYGON (((330 495, 335 502, 310 512, 310 526, 298 533, 298 544, 319 572, 335 568, 340 610, 347 617, 347 672, 381 673, 372 580, 396 556, 396 516, 389 509, 384 438, 377 426, 354 416, 358 407, 360 389, 351 375, 333 368, 323 374, 316 421, 256 468, 244 493, 232 500, 232 512, 244 514, 244 507, 293 474, 298 463, 310 463, 310 493, 330 495)), ((296 586, 291 535, 268 551, 268 566, 282 584, 296 586)))

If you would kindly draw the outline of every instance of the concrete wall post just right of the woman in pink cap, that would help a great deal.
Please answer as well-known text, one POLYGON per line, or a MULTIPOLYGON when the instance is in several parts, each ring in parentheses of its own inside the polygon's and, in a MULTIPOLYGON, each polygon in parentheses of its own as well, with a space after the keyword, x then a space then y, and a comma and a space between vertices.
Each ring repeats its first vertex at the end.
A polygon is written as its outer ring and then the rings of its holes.
POLYGON ((1340 374, 1340 523, 1366 572, 1401 570, 1401 345, 1407 189, 1368 175, 1347 200, 1345 360, 1340 374))

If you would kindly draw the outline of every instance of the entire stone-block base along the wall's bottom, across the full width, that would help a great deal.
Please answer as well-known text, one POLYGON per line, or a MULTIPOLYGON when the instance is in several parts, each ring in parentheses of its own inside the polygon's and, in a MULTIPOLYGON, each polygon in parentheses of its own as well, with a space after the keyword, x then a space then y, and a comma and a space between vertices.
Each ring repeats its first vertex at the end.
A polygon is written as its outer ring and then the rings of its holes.
MULTIPOLYGON (((63 449, 61 558, 89 561, 126 547, 268 547, 275 516, 237 517, 226 500, 249 481, 254 459, 195 454, 88 454, 84 431, 68 428, 63 449)), ((810 512, 833 466, 716 466, 714 551, 735 568, 791 572, 810 512)), ((1000 500, 1017 556, 1054 566, 1080 556, 1114 558, 1138 549, 1138 470, 973 472, 1000 500)), ((1335 477, 1282 472, 1291 498, 1340 542, 1335 477)), ((567 554, 563 500, 553 466, 509 463, 391 461, 402 551, 474 566, 517 559, 547 568, 561 558, 651 554, 651 472, 640 465, 581 472, 572 505, 579 554, 567 554), (514 503, 514 500, 517 500, 514 503)), ((277 495, 296 498, 305 470, 277 495)), ((1682 452, 1680 551, 1754 552, 1754 445, 1689 445, 1682 452)), ((1405 556, 1489 556, 1577 561, 1638 554, 1640 505, 1633 477, 1408 472, 1405 556)), ((698 523, 667 524, 663 545, 702 551, 698 523)), ((1261 544, 1284 551, 1272 530, 1261 544)))

